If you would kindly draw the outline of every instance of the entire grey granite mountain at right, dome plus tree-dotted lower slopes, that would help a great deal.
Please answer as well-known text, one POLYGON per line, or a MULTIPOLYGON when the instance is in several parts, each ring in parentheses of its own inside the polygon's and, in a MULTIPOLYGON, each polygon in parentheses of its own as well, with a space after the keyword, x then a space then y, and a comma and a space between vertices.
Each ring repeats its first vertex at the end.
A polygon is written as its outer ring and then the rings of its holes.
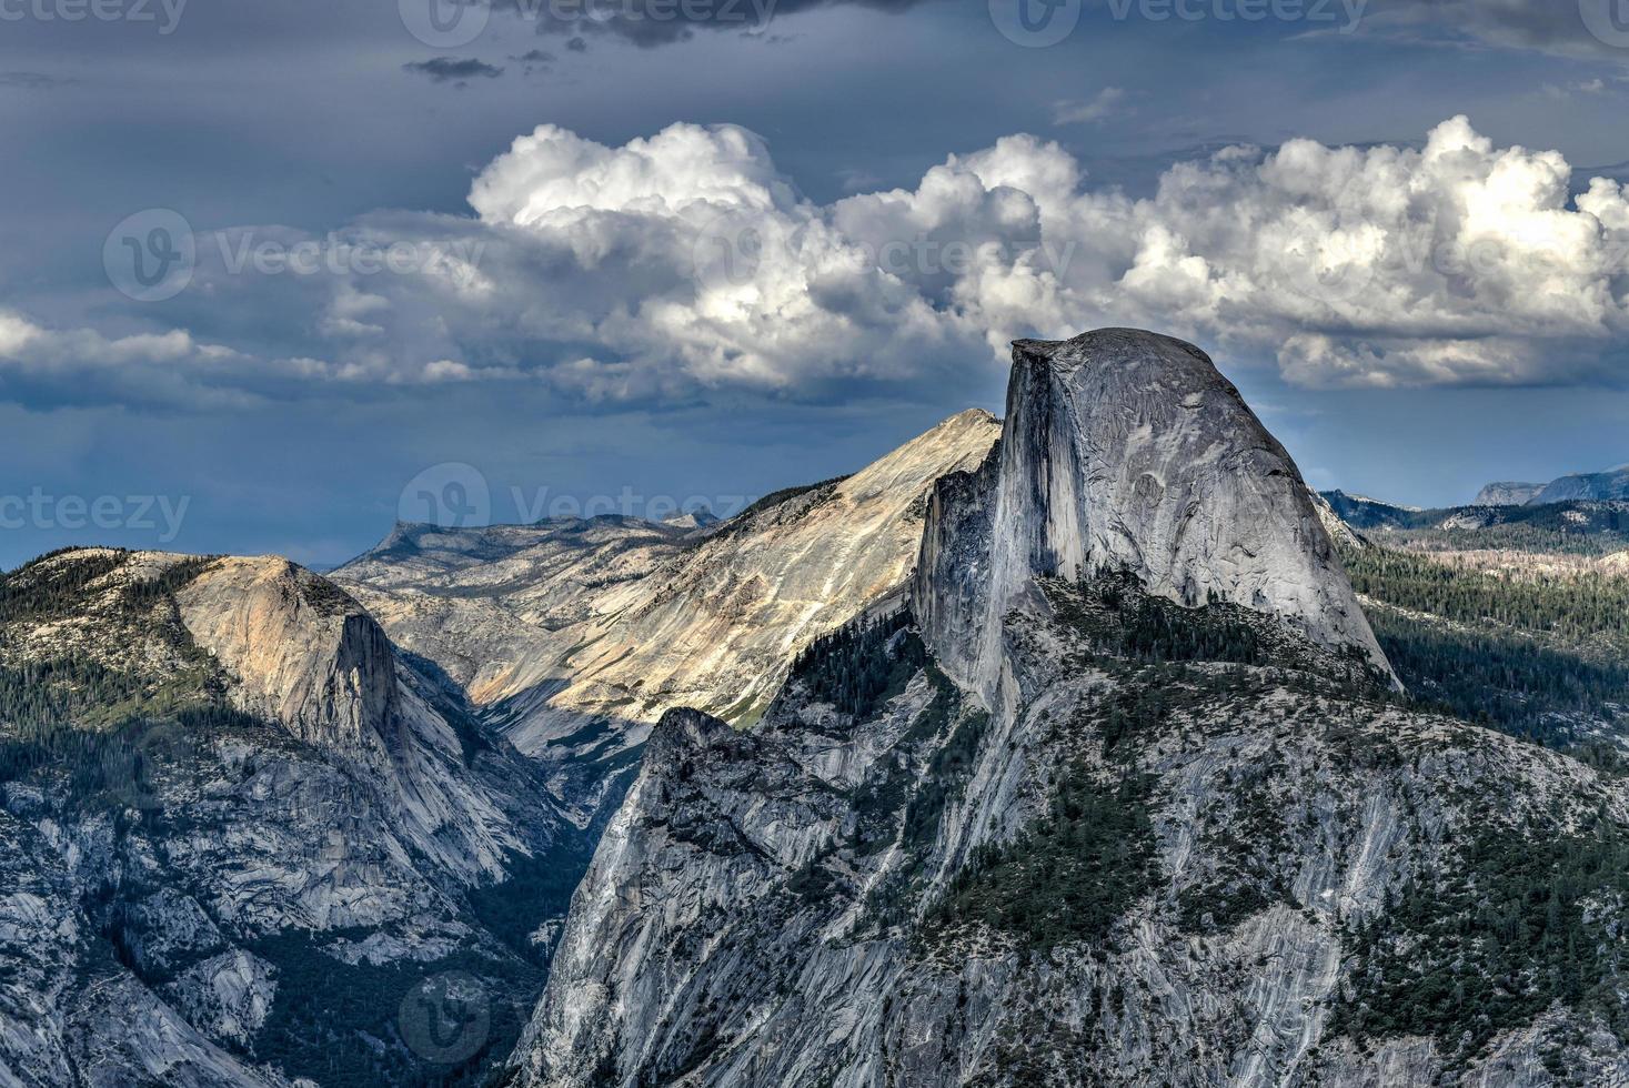
POLYGON ((1554 953, 1619 940, 1621 782, 1388 702, 1300 477, 1196 350, 1016 355, 999 453, 929 503, 922 642, 819 647, 744 733, 656 726, 516 1080, 1629 1075, 1614 958, 1554 953))

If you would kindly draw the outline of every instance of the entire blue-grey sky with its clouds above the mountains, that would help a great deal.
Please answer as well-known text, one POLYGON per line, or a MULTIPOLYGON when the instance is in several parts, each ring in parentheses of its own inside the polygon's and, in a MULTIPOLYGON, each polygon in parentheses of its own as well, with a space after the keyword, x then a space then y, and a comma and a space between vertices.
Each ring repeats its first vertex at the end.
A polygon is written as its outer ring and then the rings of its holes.
POLYGON ((1096 324, 1319 487, 1629 459, 1608 0, 445 2, 0 0, 0 565, 728 508, 1096 324))

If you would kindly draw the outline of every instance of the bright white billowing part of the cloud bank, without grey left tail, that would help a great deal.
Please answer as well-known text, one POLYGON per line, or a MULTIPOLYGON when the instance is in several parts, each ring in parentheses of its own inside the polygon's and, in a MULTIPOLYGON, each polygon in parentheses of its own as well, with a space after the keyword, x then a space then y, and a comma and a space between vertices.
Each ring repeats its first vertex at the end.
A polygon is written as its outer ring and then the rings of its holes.
POLYGON ((709 383, 904 376, 973 342, 1000 355, 1104 322, 1276 357, 1302 384, 1622 376, 1622 187, 1574 199, 1559 153, 1495 148, 1464 117, 1417 150, 1228 148, 1142 200, 1082 178, 1059 145, 1008 137, 915 189, 814 207, 736 129, 603 148, 546 127, 472 204, 583 270, 619 251, 671 261, 673 290, 622 296, 595 339, 709 383))

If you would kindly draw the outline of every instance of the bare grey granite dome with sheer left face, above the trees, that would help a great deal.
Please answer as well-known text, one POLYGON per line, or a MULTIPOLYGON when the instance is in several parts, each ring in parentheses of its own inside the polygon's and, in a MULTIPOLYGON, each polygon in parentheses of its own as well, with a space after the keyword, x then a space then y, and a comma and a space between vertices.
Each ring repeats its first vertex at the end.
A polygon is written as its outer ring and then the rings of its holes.
POLYGON ((1033 580, 1104 567, 1390 671, 1300 471, 1202 350, 1140 329, 1018 340, 999 456, 935 494, 917 614, 989 692, 1000 616, 1033 580))

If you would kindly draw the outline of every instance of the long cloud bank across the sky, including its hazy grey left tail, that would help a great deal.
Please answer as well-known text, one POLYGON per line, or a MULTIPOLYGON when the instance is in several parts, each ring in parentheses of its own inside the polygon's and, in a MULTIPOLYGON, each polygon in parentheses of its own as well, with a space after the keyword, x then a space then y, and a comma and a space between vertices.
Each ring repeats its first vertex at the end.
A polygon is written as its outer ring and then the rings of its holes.
POLYGON ((472 218, 200 238, 192 287, 163 313, 231 349, 0 314, 0 379, 122 366, 290 396, 468 381, 585 401, 821 396, 1134 324, 1302 386, 1622 383, 1629 194, 1577 181, 1559 153, 1495 147, 1455 117, 1419 148, 1227 148, 1142 199, 1015 135, 912 187, 816 204, 744 129, 606 147, 541 125, 477 174, 472 218))

